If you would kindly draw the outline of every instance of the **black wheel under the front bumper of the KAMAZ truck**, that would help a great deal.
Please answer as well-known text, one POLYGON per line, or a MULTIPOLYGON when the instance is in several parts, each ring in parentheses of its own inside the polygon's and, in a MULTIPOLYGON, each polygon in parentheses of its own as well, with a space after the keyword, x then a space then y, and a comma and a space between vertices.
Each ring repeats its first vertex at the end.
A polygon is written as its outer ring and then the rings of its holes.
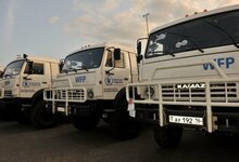
POLYGON ((160 126, 153 127, 154 139, 163 148, 175 148, 179 145, 183 129, 178 126, 160 126))

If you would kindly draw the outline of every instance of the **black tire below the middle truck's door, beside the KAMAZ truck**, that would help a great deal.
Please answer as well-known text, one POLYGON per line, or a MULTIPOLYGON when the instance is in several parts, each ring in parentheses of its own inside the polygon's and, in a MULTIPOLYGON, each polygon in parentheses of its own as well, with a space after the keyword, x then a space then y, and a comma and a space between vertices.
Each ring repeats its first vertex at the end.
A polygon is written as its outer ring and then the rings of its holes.
POLYGON ((126 100, 125 89, 120 91, 115 97, 114 108, 115 112, 112 114, 110 124, 112 134, 118 139, 131 139, 139 135, 141 123, 130 120, 127 111, 128 103, 126 100))

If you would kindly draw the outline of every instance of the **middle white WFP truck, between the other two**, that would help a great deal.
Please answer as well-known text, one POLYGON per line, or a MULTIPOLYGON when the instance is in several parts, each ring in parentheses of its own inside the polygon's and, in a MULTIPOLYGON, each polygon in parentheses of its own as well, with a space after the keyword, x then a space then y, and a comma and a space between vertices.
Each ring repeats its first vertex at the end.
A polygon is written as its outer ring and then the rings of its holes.
POLYGON ((125 86, 137 80, 133 49, 115 43, 85 46, 65 57, 62 73, 43 98, 54 113, 70 116, 78 130, 93 129, 103 119, 116 137, 128 139, 140 126, 129 120, 125 86))

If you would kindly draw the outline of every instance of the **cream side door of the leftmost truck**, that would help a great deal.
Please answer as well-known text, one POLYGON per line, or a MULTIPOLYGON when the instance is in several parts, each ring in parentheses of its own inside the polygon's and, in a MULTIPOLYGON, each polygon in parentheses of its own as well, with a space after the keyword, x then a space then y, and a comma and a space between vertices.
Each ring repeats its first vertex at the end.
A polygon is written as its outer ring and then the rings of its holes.
POLYGON ((21 97, 30 98, 33 95, 50 85, 50 64, 43 62, 34 62, 30 75, 27 75, 29 63, 26 64, 21 82, 21 97))

